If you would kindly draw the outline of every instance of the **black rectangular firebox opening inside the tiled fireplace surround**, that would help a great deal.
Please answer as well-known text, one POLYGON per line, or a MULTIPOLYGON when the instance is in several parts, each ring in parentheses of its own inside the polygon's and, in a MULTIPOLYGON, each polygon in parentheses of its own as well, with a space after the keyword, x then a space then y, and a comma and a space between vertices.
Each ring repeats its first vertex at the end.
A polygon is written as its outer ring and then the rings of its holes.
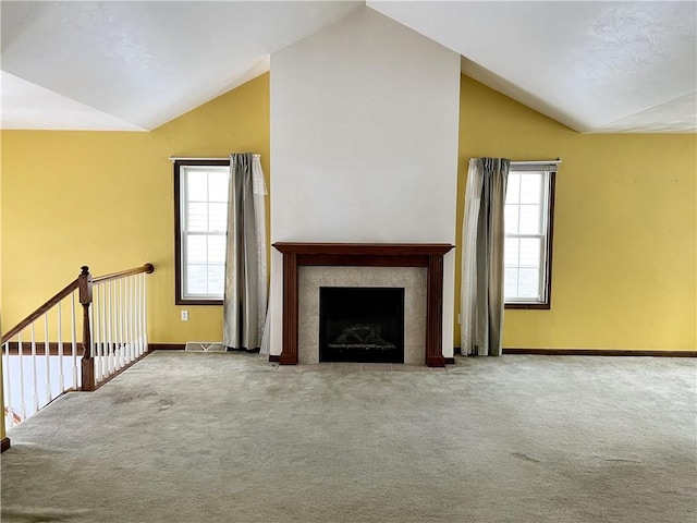
POLYGON ((319 361, 404 363, 404 289, 320 287, 319 361))

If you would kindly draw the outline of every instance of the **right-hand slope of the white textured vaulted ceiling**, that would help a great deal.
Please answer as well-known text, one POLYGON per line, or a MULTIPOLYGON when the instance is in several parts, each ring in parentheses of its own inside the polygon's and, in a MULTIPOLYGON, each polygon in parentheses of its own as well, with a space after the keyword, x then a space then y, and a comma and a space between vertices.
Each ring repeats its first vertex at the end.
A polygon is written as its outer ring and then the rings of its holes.
POLYGON ((469 76, 576 131, 696 130, 694 104, 686 112, 697 90, 694 1, 368 5, 457 51, 469 76))

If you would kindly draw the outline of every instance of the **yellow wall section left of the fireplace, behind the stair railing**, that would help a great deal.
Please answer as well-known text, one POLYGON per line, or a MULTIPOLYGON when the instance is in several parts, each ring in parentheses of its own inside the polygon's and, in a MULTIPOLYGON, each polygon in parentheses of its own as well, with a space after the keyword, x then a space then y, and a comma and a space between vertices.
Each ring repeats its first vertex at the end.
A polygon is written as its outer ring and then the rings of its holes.
POLYGON ((7 330, 74 279, 155 265, 150 341, 219 341, 222 307, 174 305, 170 156, 261 155, 269 175, 269 75, 150 133, 2 132, 2 304, 7 330), (180 320, 181 308, 189 320, 180 320))

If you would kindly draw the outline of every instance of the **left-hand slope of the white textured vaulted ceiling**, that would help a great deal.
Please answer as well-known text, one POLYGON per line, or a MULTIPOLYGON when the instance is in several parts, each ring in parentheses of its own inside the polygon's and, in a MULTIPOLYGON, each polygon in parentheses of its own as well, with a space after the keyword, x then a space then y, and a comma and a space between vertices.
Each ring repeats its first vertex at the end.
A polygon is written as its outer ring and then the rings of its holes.
MULTIPOLYGON (((270 53, 358 7, 2 1, 1 64, 7 73, 127 122, 124 129, 150 130, 268 70, 270 53)), ((9 117, 28 110, 13 108, 3 88, 3 126, 16 129, 9 117)))

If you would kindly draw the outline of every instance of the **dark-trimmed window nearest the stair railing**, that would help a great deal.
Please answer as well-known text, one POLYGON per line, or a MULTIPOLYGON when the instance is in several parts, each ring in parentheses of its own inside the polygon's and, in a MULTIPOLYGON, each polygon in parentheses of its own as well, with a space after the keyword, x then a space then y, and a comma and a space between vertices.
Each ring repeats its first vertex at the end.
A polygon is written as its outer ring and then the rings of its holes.
POLYGON ((174 162, 178 305, 221 305, 225 281, 228 160, 174 162))

